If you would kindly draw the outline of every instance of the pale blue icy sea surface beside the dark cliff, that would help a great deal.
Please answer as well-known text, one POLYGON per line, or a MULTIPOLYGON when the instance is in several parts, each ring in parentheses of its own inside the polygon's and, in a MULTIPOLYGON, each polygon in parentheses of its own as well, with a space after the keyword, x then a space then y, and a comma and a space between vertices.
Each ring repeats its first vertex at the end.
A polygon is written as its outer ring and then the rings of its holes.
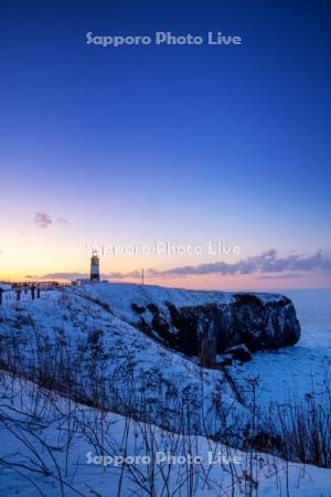
POLYGON ((234 377, 245 388, 246 378, 258 377, 257 400, 287 403, 312 391, 331 387, 331 290, 285 290, 301 325, 300 341, 293 347, 254 355, 250 362, 234 368, 234 377))

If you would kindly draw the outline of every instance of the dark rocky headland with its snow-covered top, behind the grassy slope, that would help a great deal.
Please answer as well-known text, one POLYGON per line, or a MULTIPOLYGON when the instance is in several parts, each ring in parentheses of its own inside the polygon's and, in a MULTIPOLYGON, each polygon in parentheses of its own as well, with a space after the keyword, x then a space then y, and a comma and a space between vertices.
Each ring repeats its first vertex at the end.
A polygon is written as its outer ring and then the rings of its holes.
POLYGON ((229 347, 250 351, 295 345, 296 310, 275 294, 189 292, 157 286, 85 286, 82 294, 109 305, 120 319, 168 347, 213 364, 229 347))

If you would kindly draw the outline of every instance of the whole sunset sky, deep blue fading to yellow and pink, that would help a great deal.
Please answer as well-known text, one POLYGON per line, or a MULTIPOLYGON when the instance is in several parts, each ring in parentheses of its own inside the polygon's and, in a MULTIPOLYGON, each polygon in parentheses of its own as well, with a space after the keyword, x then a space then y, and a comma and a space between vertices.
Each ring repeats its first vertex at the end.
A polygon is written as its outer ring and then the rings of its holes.
POLYGON ((1 10, 0 279, 84 275, 89 245, 222 241, 239 254, 105 255, 102 269, 331 287, 329 1, 1 10), (115 49, 87 45, 89 31, 243 44, 115 49))

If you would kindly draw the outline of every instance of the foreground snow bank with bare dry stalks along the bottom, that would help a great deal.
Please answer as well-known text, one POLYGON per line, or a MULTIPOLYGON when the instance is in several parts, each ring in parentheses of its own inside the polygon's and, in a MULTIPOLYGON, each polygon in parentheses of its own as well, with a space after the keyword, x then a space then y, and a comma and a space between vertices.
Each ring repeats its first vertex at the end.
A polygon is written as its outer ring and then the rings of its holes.
POLYGON ((1 496, 330 496, 331 469, 102 413, 7 373, 0 385, 1 496))

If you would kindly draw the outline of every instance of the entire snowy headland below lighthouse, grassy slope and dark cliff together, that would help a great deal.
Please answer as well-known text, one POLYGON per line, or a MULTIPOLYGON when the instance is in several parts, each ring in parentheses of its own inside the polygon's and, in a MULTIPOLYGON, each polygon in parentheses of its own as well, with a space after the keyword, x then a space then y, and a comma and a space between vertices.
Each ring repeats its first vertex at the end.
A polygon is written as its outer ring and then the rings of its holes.
POLYGON ((241 444, 249 417, 241 389, 201 359, 238 342, 290 345, 299 334, 278 295, 95 284, 1 306, 0 367, 88 405, 241 444), (190 426, 179 426, 183 410, 190 426))

